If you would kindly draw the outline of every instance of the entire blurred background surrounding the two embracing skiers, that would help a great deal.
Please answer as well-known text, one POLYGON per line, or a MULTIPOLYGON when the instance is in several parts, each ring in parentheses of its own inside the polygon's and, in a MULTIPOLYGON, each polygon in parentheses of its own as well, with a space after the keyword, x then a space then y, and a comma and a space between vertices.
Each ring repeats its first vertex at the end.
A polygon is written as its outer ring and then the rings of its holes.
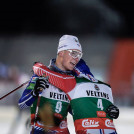
MULTIPOLYGON (((0 97, 30 79, 35 61, 48 65, 62 35, 75 35, 95 78, 110 82, 120 108, 118 134, 132 134, 133 14, 132 0, 0 1, 0 97)), ((29 133, 29 109, 18 107, 24 88, 0 101, 1 134, 29 133)))

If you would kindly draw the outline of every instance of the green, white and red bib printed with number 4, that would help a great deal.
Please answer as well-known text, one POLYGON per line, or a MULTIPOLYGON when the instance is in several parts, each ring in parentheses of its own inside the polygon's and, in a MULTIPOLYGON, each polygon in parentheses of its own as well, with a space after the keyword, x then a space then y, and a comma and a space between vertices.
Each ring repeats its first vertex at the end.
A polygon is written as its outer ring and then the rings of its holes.
POLYGON ((115 130, 113 120, 105 113, 107 107, 113 103, 111 87, 85 78, 76 78, 76 82, 75 88, 67 93, 76 131, 115 130))

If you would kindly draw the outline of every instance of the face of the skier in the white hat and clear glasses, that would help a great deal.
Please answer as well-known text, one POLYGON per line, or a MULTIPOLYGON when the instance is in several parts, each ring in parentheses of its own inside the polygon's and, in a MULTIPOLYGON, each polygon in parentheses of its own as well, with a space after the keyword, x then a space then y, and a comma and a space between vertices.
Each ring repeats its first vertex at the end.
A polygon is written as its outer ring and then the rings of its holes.
POLYGON ((62 67, 65 71, 67 70, 73 70, 76 64, 80 60, 80 54, 82 54, 79 50, 73 50, 73 51, 68 51, 64 50, 63 51, 63 60, 62 60, 62 67))

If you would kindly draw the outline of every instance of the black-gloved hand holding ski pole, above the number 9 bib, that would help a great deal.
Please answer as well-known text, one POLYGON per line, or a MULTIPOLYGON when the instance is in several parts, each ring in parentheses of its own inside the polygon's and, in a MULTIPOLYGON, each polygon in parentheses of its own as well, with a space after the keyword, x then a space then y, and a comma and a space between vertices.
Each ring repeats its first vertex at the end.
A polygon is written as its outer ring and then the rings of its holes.
POLYGON ((32 92, 33 96, 38 96, 42 91, 49 87, 48 77, 39 77, 36 80, 34 90, 32 92))

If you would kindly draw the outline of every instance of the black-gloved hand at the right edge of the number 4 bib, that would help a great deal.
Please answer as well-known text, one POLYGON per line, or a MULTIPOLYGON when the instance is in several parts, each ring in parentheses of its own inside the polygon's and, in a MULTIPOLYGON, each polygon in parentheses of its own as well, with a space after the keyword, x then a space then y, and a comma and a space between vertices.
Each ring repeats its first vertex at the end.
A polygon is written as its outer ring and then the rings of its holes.
POLYGON ((111 104, 107 109, 106 113, 109 117, 117 119, 119 117, 119 108, 111 104))

